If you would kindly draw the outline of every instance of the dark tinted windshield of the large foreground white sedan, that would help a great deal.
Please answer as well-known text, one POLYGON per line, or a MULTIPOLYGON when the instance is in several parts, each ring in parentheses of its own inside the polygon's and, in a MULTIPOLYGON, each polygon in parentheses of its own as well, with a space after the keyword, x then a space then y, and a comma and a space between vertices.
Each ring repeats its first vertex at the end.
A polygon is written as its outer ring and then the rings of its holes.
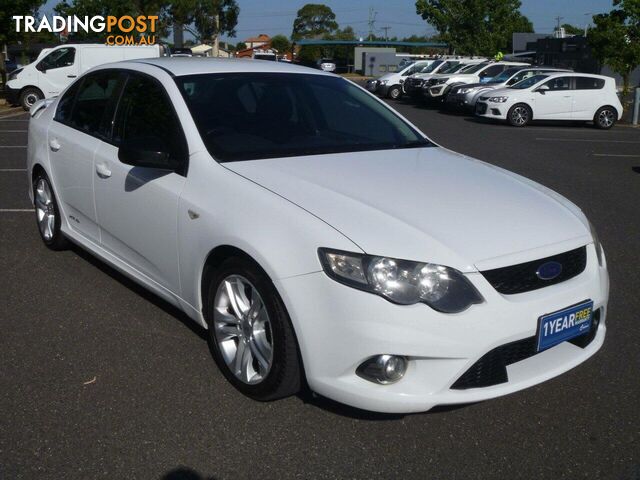
POLYGON ((432 145, 342 78, 284 73, 177 77, 198 131, 220 162, 432 145))

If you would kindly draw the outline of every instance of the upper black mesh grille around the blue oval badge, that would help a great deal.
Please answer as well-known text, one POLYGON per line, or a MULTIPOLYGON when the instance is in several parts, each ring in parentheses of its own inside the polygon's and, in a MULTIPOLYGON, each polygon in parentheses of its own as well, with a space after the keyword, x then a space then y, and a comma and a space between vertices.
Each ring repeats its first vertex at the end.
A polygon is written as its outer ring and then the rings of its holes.
MULTIPOLYGON (((478 108, 480 108, 480 105, 478 105, 478 108)), ((504 295, 514 295, 569 280, 581 274, 586 266, 587 248, 580 247, 552 257, 494 270, 485 270, 480 273, 498 292, 504 295), (562 271, 553 279, 542 280, 536 272, 541 265, 547 262, 558 262, 562 265, 562 271)))

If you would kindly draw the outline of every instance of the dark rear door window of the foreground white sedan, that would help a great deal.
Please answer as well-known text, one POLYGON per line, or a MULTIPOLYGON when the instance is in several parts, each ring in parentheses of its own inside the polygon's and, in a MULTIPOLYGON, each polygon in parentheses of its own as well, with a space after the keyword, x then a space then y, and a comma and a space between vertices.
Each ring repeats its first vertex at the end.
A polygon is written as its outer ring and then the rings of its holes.
POLYGON ((114 97, 122 78, 122 74, 115 70, 87 75, 78 90, 70 125, 90 135, 110 136, 114 97))

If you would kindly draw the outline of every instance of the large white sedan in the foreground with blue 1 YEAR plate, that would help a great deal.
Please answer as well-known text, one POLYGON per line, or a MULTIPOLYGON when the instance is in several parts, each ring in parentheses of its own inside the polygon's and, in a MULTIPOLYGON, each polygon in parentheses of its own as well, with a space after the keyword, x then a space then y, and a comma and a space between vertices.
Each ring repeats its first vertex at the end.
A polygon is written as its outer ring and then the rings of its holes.
POLYGON ((72 241, 184 310, 251 398, 306 381, 425 411, 530 387, 603 344, 606 259, 580 209, 435 145, 340 77, 112 63, 31 115, 44 243, 72 241))

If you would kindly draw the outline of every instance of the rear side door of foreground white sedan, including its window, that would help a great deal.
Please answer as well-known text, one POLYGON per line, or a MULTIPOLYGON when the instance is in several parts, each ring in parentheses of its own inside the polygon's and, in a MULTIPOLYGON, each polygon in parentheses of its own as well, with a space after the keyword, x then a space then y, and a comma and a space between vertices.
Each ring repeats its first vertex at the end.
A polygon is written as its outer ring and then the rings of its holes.
POLYGON ((100 70, 72 85, 58 102, 47 138, 50 173, 67 223, 96 243, 93 156, 110 128, 122 78, 115 70, 100 70))

